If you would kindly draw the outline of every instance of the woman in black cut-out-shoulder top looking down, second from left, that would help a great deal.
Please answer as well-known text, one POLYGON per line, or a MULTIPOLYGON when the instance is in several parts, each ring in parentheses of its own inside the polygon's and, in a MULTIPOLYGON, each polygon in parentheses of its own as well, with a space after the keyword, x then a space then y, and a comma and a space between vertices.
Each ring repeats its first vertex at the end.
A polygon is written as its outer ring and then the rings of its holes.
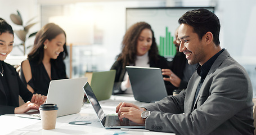
POLYGON ((32 93, 47 95, 51 80, 66 79, 66 33, 49 23, 38 31, 28 60, 21 63, 21 80, 32 93))

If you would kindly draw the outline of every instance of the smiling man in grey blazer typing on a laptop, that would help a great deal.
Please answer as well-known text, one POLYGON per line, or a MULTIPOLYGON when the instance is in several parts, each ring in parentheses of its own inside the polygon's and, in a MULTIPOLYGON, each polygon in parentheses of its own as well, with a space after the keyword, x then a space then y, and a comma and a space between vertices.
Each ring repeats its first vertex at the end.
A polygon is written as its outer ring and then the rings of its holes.
POLYGON ((253 134, 253 89, 245 69, 219 45, 219 19, 205 10, 179 18, 179 52, 199 67, 187 89, 143 107, 120 103, 119 119, 177 134, 253 134))

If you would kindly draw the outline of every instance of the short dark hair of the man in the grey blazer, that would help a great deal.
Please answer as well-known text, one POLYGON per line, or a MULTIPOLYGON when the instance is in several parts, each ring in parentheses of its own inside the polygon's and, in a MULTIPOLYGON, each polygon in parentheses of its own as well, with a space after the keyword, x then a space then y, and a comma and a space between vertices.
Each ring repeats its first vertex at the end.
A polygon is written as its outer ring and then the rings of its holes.
POLYGON ((202 39, 210 31, 213 34, 213 42, 216 46, 219 46, 221 24, 219 24, 219 19, 213 12, 204 8, 187 11, 179 18, 178 22, 179 24, 192 26, 199 39, 202 39))

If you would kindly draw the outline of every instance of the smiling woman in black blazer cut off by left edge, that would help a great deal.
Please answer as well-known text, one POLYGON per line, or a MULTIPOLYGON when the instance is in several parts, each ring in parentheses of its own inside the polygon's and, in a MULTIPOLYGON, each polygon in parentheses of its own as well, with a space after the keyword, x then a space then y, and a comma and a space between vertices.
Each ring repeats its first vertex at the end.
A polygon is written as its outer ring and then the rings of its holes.
POLYGON ((22 114, 31 109, 39 109, 46 96, 33 95, 21 82, 15 68, 3 60, 12 51, 14 31, 11 25, 0 18, 0 115, 22 114), (19 95, 26 102, 19 106, 19 95))

